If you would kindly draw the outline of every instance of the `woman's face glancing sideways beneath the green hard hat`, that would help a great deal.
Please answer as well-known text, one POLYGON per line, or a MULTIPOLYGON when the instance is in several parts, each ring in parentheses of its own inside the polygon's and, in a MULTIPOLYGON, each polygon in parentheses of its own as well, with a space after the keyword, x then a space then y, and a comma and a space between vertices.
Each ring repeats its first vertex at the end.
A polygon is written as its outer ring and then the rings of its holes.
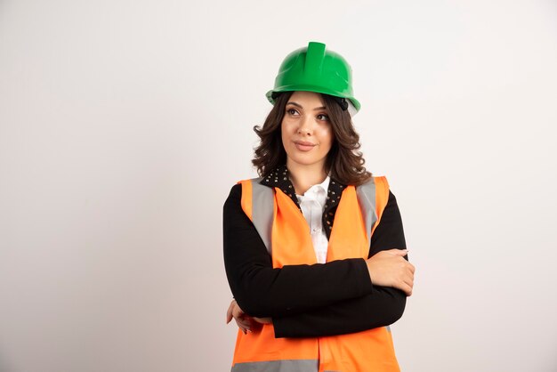
POLYGON ((290 96, 281 133, 287 166, 325 167, 334 135, 319 93, 295 92, 290 96))

